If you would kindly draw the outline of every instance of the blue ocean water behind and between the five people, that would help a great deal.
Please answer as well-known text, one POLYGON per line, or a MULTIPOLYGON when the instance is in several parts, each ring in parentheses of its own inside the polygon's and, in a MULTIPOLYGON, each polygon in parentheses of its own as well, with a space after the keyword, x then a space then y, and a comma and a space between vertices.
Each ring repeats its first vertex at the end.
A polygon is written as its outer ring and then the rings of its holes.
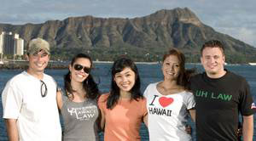
MULTIPOLYGON (((95 64, 94 70, 92 71, 96 82, 99 83, 99 88, 102 93, 107 93, 110 87, 111 81, 111 68, 112 64, 95 64)), ((162 80, 160 65, 147 65, 139 64, 137 65, 139 70, 139 75, 142 81, 142 92, 148 86, 149 83, 159 82, 162 80)), ((187 68, 196 68, 197 71, 202 71, 201 65, 186 65, 187 68)), ((229 71, 234 71, 236 74, 244 76, 247 79, 251 87, 251 93, 253 94, 253 100, 256 101, 256 66, 251 65, 227 65, 226 69, 229 71)), ((0 93, 3 91, 5 83, 16 74, 19 74, 20 70, 0 70, 0 93)), ((59 86, 63 87, 63 75, 67 73, 67 70, 46 70, 45 73, 53 76, 55 81, 59 86)), ((3 122, 3 106, 2 98, 0 94, 0 141, 7 140, 5 125, 3 122)), ((256 117, 254 116, 254 124, 256 124, 256 117)), ((193 139, 195 140, 195 123, 189 121, 189 124, 193 127, 193 139)), ((148 130, 144 125, 141 127, 140 134, 143 141, 148 140, 148 130)), ((101 134, 102 135, 102 134, 101 134)), ((256 141, 256 126, 254 126, 254 137, 253 141, 256 141)))

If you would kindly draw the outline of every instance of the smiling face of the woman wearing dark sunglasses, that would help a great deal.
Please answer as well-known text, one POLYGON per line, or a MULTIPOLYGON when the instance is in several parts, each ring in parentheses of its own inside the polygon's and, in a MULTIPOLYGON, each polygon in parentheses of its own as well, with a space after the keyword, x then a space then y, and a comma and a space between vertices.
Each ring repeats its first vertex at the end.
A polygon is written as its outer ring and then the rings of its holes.
POLYGON ((73 65, 69 65, 69 71, 71 73, 71 81, 73 82, 84 82, 84 80, 89 76, 89 73, 84 72, 84 67, 90 68, 90 59, 79 58, 76 59, 73 65), (77 69, 75 65, 82 65, 83 68, 77 69))

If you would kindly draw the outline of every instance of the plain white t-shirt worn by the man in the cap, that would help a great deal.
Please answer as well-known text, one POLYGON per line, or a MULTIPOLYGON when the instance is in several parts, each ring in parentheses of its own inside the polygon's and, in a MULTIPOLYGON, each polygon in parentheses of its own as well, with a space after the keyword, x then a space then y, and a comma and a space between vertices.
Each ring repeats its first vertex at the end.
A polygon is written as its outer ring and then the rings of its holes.
POLYGON ((26 71, 14 76, 3 89, 3 118, 17 119, 20 141, 61 141, 56 83, 46 74, 43 82, 48 91, 44 98, 42 82, 26 71))

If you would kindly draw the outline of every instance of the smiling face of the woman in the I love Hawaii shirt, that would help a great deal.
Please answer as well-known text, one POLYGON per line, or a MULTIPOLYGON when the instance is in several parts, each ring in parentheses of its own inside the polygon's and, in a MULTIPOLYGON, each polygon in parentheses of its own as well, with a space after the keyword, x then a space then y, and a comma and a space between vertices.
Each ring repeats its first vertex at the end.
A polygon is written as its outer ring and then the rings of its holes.
POLYGON ((162 73, 165 80, 177 80, 180 65, 176 55, 169 55, 163 62, 162 73))

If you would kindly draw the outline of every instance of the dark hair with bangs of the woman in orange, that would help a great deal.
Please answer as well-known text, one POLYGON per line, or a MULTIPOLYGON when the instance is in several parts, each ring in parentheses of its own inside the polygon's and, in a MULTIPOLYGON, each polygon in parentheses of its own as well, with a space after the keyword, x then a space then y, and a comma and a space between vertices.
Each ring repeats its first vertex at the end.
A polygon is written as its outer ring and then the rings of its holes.
POLYGON ((114 76, 116 73, 119 73, 123 71, 125 68, 131 68, 131 70, 135 73, 135 84, 131 88, 130 93, 131 93, 131 100, 138 100, 138 99, 143 99, 143 94, 140 91, 141 88, 141 82, 140 82, 140 76, 137 71, 137 66, 135 63, 128 58, 122 57, 120 59, 117 59, 114 61, 113 66, 112 66, 112 82, 111 82, 111 90, 110 94, 108 97, 107 101, 107 108, 108 109, 113 109, 115 104, 118 103, 119 97, 120 97, 120 88, 117 86, 116 82, 114 81, 114 76))

